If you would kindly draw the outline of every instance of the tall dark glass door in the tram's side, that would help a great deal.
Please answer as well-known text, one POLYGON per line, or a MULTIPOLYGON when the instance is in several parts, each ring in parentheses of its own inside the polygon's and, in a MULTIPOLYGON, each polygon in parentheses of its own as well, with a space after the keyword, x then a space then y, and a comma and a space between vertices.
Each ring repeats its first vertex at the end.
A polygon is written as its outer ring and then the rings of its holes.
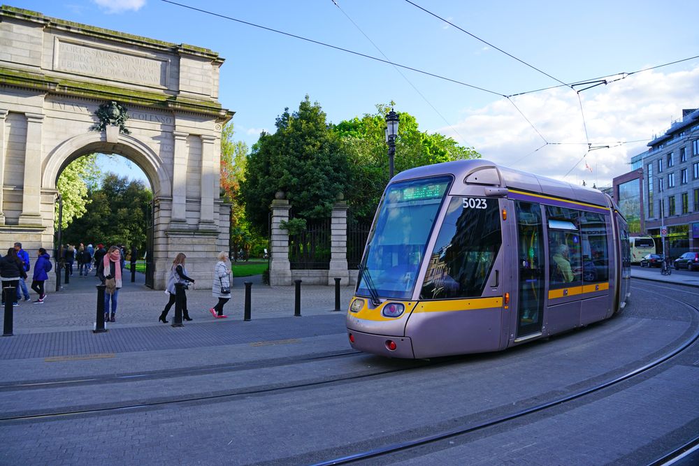
POLYGON ((545 253, 541 205, 514 201, 517 214, 519 299, 515 342, 538 335, 544 321, 545 253))

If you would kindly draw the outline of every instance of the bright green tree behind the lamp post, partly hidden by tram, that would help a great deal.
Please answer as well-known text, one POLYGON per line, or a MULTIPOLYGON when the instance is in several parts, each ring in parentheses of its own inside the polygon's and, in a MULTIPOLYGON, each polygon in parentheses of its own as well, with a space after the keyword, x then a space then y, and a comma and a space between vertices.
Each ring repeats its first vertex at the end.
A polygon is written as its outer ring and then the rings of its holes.
MULTIPOLYGON (((349 154, 347 203, 356 219, 370 221, 389 177, 385 142, 386 115, 394 103, 376 105, 374 114, 354 117, 333 126, 349 154)), ((417 119, 400 113, 396 154, 396 173, 409 168, 461 159, 477 159, 473 147, 461 147, 452 138, 439 133, 419 131, 417 119)))

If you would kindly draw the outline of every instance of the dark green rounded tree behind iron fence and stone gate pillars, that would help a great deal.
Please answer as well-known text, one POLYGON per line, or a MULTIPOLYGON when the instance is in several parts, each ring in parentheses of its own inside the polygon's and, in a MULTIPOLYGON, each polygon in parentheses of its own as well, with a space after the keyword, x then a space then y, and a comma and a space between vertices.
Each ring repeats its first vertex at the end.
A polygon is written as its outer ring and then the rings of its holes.
POLYGON ((319 103, 305 96, 296 112, 285 108, 275 126, 253 145, 240 184, 247 219, 261 234, 277 191, 284 191, 296 216, 318 219, 330 216, 347 187, 347 156, 319 103))

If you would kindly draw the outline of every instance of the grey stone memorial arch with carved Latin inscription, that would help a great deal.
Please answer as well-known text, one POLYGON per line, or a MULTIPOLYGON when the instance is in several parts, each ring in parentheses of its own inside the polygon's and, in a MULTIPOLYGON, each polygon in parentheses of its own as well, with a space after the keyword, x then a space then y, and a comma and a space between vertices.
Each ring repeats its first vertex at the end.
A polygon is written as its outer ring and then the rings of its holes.
POLYGON ((210 286, 217 252, 229 249, 230 206, 219 198, 221 129, 233 116, 218 101, 223 61, 1 6, 0 249, 20 241, 32 265, 39 247, 51 251, 61 171, 85 154, 119 154, 150 180, 154 288, 178 252, 210 286))

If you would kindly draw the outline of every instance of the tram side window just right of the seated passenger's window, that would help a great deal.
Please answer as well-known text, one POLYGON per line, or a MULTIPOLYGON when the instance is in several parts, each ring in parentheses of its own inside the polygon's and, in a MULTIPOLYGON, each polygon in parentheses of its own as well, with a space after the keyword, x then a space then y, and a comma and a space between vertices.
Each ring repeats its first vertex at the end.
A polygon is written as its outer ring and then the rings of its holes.
POLYGON ((582 233, 582 280, 585 283, 609 280, 607 222, 609 217, 594 212, 580 212, 582 233))

